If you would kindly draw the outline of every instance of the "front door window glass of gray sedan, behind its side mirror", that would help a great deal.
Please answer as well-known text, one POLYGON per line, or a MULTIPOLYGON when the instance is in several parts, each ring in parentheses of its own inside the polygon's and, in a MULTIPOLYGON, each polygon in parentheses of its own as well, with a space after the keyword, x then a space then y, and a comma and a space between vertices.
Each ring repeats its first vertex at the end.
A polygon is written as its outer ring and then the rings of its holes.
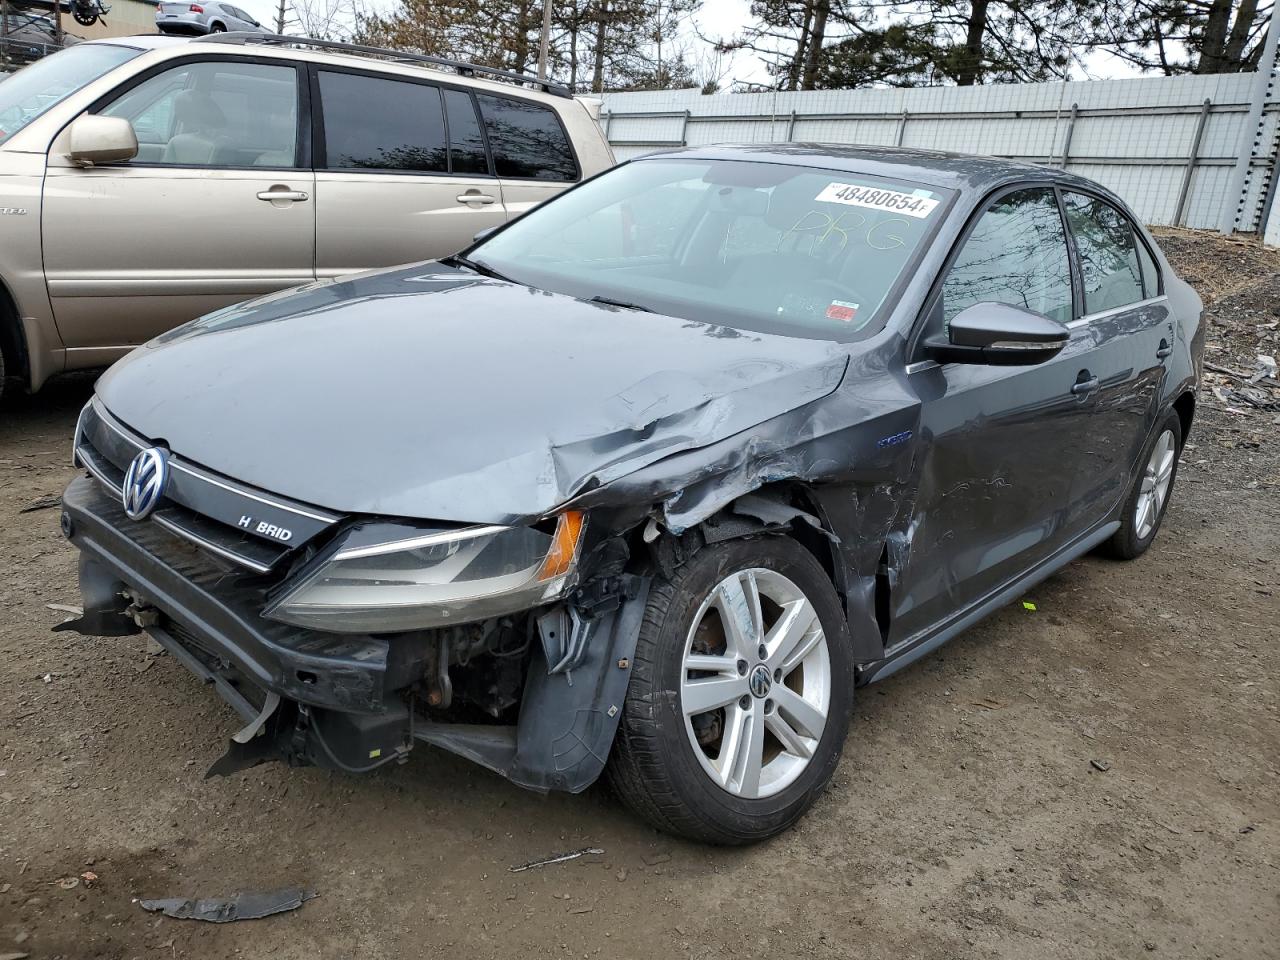
POLYGON ((1071 319, 1071 264, 1051 188, 1006 193, 982 215, 942 283, 941 323, 992 301, 1071 319))

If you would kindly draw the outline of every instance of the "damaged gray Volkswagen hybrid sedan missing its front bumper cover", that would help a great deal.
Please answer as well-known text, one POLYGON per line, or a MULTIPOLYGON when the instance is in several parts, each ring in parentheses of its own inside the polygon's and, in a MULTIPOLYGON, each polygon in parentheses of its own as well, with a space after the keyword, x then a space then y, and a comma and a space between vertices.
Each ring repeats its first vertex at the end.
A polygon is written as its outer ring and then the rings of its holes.
POLYGON ((212 685, 246 726, 211 772, 426 742, 760 840, 831 778, 858 685, 1147 549, 1199 316, 1060 170, 634 160, 462 256, 116 364, 76 429, 64 626, 145 630, 212 685))

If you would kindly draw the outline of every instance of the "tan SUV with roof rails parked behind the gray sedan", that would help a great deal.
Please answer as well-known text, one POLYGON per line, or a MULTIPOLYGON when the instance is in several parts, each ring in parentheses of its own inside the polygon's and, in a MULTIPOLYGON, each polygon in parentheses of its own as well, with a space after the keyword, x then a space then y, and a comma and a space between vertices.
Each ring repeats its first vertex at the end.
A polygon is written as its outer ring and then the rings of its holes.
POLYGON ((261 35, 49 56, 0 83, 4 372, 36 389, 228 303, 454 253, 613 164, 591 108, 261 35))

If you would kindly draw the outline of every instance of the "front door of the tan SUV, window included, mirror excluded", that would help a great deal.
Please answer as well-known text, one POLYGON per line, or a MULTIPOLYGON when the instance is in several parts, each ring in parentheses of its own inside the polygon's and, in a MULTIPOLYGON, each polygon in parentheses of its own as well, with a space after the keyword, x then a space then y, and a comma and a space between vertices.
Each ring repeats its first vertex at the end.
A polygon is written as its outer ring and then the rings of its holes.
POLYGON ((141 343, 315 276, 303 90, 293 65, 192 59, 92 109, 133 124, 133 160, 82 169, 55 141, 44 259, 69 348, 141 343))

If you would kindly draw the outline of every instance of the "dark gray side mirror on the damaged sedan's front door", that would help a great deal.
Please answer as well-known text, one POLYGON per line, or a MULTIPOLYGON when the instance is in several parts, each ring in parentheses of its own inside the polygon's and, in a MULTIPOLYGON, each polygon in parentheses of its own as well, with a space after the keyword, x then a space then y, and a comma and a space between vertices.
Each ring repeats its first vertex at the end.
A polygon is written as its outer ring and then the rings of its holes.
POLYGON ((1043 314, 987 302, 956 314, 947 334, 924 342, 924 352, 940 364, 1029 366, 1057 356, 1070 339, 1070 330, 1043 314))

